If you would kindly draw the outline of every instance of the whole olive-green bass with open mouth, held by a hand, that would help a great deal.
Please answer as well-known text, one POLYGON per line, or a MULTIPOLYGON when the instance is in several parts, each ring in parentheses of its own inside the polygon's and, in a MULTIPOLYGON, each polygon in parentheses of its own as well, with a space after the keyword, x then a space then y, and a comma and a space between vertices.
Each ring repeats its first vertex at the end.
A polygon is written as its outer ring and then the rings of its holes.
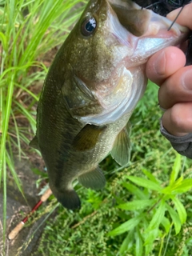
POLYGON ((146 90, 146 61, 186 39, 188 29, 129 0, 90 0, 46 75, 30 146, 40 150, 50 189, 81 207, 73 182, 102 190, 99 163, 130 161, 130 116, 146 90))

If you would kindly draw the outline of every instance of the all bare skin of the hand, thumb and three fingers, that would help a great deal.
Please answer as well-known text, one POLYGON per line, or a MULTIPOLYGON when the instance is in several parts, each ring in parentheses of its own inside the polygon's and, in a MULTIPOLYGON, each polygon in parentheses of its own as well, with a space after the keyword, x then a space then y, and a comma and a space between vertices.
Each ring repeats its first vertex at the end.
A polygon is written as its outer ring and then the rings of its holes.
MULTIPOLYGON (((174 20, 180 8, 167 18, 174 20)), ((192 3, 186 5, 177 22, 192 30, 192 3)), ((192 66, 185 66, 182 50, 170 46, 154 54, 146 64, 146 75, 160 89, 158 102, 165 109, 162 125, 174 136, 192 132, 192 66)))

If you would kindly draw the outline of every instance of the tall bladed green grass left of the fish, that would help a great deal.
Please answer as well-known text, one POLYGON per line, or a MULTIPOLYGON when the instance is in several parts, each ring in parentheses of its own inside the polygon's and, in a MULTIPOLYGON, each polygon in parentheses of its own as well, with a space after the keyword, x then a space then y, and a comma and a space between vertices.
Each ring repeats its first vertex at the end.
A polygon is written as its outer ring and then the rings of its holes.
MULTIPOLYGON (((14 170, 12 147, 25 155, 21 143, 35 132, 35 83, 47 73, 43 59, 69 33, 85 2, 78 0, 6 0, 0 5, 0 184, 3 187, 3 214, 6 217, 6 167, 22 193, 14 170), (81 2, 80 6, 74 6, 81 2), (25 119, 24 126, 20 117, 25 119), (9 149, 9 150, 7 150, 9 149)), ((39 89, 38 89, 39 90, 39 89)), ((3 222, 4 240, 6 218, 3 222)))

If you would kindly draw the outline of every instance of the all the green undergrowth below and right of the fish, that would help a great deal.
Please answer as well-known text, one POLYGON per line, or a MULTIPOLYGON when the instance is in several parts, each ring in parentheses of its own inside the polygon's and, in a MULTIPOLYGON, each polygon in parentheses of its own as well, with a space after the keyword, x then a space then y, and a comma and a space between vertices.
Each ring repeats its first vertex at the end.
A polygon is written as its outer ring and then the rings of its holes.
POLYGON ((38 247, 42 255, 190 255, 190 160, 175 154, 160 135, 158 122, 154 122, 161 114, 156 94, 150 84, 131 118, 130 165, 113 166, 110 156, 102 162, 106 188, 95 192, 80 186, 79 212, 69 213, 59 206, 57 218, 47 223, 42 235, 38 247), (148 99, 151 95, 154 100, 148 99), (146 102, 150 115, 143 112, 141 120, 139 113, 146 102), (186 180, 189 184, 180 190, 186 180), (186 211, 181 211, 172 197, 186 211))

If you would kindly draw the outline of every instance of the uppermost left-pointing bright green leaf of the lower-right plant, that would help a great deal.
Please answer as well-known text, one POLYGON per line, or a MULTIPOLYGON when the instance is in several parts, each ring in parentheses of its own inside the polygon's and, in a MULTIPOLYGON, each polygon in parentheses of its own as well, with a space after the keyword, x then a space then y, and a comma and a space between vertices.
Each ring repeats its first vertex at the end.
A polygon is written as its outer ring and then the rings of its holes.
POLYGON ((134 182, 138 186, 146 187, 149 190, 156 190, 158 192, 161 192, 162 186, 157 184, 156 182, 151 182, 146 178, 139 178, 134 176, 127 176, 131 182, 134 182))

